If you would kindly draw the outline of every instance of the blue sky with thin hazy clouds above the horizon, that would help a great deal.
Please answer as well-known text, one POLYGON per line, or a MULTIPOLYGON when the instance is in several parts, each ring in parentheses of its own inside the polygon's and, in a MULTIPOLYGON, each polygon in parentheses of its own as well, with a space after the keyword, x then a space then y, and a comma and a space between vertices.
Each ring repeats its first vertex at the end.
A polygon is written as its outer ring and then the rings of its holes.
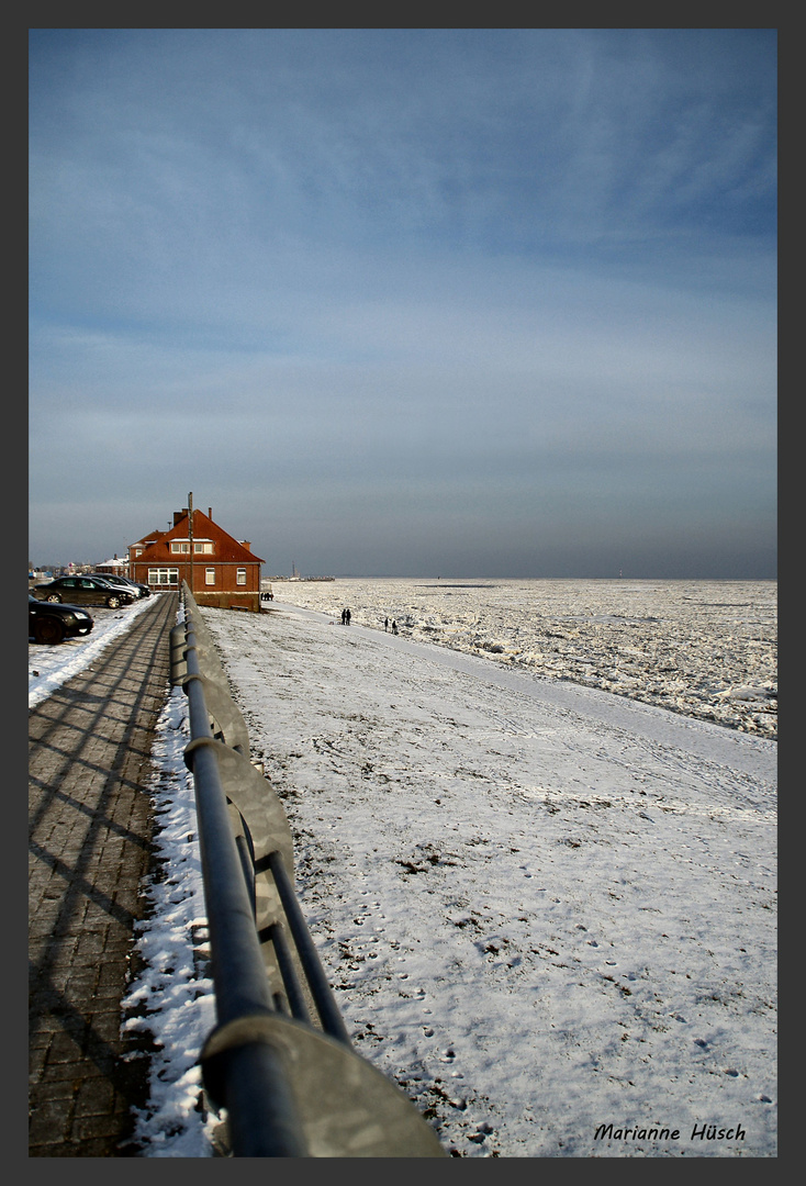
POLYGON ((30 549, 775 575, 772 30, 32 30, 30 549))

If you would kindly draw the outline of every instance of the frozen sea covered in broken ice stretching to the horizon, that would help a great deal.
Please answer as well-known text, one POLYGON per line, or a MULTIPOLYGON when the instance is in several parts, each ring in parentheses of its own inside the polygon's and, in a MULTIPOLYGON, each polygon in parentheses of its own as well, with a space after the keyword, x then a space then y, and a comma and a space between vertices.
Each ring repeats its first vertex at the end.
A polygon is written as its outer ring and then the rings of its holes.
MULTIPOLYGON (((267 584, 267 582, 264 582, 267 584)), ((778 737, 778 582, 274 581, 281 601, 778 737)))

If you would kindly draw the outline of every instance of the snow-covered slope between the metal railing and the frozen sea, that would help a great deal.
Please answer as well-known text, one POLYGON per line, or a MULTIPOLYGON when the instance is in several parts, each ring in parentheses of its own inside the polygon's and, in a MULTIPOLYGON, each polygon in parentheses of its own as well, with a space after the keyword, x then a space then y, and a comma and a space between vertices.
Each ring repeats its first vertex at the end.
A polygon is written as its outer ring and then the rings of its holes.
POLYGON ((205 620, 357 1046, 446 1147, 774 1154, 775 742, 274 606, 205 620))

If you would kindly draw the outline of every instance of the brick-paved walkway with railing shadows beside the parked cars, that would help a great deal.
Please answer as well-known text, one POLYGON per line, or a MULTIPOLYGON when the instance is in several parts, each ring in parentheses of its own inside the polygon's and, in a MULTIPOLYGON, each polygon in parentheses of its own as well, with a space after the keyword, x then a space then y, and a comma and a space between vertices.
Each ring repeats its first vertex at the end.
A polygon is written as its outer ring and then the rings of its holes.
POLYGON ((28 714, 30 1156, 137 1154, 130 1110, 146 1099, 147 1045, 121 1038, 121 1000, 145 907, 151 746, 177 605, 175 593, 154 597, 28 714))

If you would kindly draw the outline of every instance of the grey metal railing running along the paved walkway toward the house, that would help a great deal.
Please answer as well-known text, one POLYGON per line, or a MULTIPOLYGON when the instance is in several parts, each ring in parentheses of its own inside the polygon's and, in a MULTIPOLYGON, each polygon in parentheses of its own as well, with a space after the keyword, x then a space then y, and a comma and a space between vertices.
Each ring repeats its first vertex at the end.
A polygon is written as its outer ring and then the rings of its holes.
POLYGON ((352 1047, 294 891, 282 803, 183 582, 171 680, 188 699, 217 1026, 203 1082, 239 1158, 437 1158, 414 1104, 352 1047))

